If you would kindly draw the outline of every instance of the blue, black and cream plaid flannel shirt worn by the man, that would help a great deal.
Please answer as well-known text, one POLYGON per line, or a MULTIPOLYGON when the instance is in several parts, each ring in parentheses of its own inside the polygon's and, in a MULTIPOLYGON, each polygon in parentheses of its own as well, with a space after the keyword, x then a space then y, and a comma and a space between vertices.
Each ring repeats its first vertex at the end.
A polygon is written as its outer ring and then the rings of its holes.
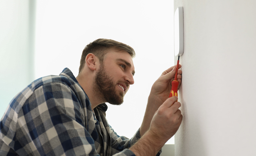
MULTIPOLYGON (((42 77, 10 102, 0 122, 0 155, 122 155, 139 138, 118 136, 109 126, 106 104, 91 109, 73 73, 42 77)), ((159 155, 159 153, 158 153, 159 155)))

